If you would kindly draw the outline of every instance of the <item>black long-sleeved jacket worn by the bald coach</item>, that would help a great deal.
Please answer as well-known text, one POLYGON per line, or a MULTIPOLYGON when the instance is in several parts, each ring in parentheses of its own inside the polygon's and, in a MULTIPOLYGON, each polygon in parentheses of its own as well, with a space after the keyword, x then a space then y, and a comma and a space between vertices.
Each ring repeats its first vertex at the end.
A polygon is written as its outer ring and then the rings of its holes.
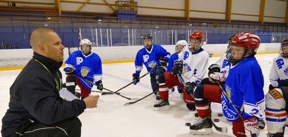
POLYGON ((2 118, 2 137, 19 132, 28 119, 54 124, 78 116, 86 109, 83 100, 68 102, 59 97, 61 87, 58 86, 62 78, 59 68, 62 62, 33 54, 10 87, 9 109, 2 118))

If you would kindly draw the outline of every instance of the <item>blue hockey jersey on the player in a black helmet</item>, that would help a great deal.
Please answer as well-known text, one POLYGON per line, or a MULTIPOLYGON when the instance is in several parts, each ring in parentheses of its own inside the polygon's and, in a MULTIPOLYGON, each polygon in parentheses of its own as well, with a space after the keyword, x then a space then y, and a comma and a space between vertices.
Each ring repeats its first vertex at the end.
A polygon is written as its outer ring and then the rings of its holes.
POLYGON ((165 57, 167 60, 170 58, 170 53, 160 45, 153 44, 150 52, 147 51, 146 48, 139 50, 135 59, 136 76, 140 76, 140 72, 143 69, 143 64, 147 71, 157 67, 160 57, 165 57))

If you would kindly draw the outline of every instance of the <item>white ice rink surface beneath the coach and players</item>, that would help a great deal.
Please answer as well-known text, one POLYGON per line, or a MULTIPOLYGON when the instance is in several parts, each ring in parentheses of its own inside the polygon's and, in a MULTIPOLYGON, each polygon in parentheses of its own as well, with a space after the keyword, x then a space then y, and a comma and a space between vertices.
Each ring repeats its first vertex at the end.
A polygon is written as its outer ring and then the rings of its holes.
MULTIPOLYGON (((256 55, 264 76, 264 92, 268 91, 269 72, 273 57, 277 54, 256 55)), ((217 61, 220 57, 209 58, 209 65, 217 61)), ((123 87, 132 81, 132 74, 135 72, 134 63, 105 64, 103 68, 103 86, 112 91, 123 87)), ((60 68, 62 76, 65 78, 63 68, 60 68)), ((0 118, 4 116, 8 109, 9 88, 21 70, 0 71, 0 118)), ((143 69, 141 76, 146 73, 143 69)), ((206 72, 208 73, 208 72, 206 72)), ((65 82, 65 79, 63 79, 65 82)), ((79 89, 79 87, 77 87, 79 89)), ((93 87, 92 90, 97 90, 93 87)), ((105 91, 105 90, 103 90, 105 91)), ((137 85, 130 85, 121 91, 121 95, 129 98, 142 98, 152 92, 150 77, 147 75, 140 80, 137 85)), ((175 90, 169 92, 170 110, 154 111, 153 105, 156 102, 154 94, 144 100, 132 105, 124 106, 127 100, 117 95, 99 94, 104 102, 98 102, 95 109, 86 109, 79 118, 82 121, 82 137, 191 137, 189 127, 186 122, 193 124, 197 120, 194 117, 196 111, 186 108, 180 94, 175 90)), ((193 137, 233 137, 232 124, 224 117, 219 117, 221 104, 212 104, 212 119, 218 118, 220 122, 215 122, 219 127, 228 127, 228 134, 221 134, 214 128, 214 134, 209 136, 193 137)), ((1 125, 2 123, 0 123, 1 125)), ((266 137, 267 128, 260 131, 259 137, 266 137)), ((287 130, 286 130, 287 131, 287 130)), ((288 136, 286 132, 285 137, 288 136)))

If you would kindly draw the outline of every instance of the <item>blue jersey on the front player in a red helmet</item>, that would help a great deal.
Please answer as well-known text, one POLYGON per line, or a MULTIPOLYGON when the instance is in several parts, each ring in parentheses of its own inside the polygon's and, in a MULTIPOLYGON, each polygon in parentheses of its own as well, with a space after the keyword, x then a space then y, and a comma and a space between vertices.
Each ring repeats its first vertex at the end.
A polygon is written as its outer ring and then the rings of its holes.
MULTIPOLYGON (((251 116, 256 116, 258 119, 264 118, 263 85, 262 70, 254 56, 248 57, 234 66, 230 64, 225 90, 237 110, 240 113, 244 111, 244 119, 251 116)), ((236 121, 239 115, 228 98, 222 93, 223 114, 228 121, 236 121)))

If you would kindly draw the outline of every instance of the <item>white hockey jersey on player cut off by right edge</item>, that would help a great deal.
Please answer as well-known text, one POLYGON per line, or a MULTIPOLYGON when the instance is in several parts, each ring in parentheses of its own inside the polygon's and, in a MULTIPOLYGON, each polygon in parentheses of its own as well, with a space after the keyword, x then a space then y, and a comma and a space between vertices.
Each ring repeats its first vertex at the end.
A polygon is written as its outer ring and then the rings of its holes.
POLYGON ((288 58, 277 55, 273 59, 269 79, 274 87, 278 86, 280 80, 288 79, 288 58))

